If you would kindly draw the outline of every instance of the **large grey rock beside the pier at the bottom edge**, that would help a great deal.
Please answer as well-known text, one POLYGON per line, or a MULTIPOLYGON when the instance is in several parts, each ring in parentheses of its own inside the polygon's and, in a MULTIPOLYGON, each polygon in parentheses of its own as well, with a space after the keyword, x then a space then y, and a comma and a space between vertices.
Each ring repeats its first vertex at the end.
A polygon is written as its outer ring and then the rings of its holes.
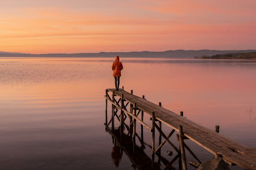
POLYGON ((222 158, 212 158, 212 160, 201 164, 198 170, 230 170, 230 168, 222 158))

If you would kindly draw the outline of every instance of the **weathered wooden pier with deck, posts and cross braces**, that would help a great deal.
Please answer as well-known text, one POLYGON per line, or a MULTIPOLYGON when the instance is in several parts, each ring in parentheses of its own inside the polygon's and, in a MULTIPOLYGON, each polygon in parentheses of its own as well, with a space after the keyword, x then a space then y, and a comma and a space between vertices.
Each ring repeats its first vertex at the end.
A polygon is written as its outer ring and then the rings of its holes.
MULTIPOLYGON (((143 127, 150 130, 152 133, 152 156, 159 153, 161 147, 166 142, 181 155, 183 170, 187 170, 186 165, 186 150, 195 158, 195 160, 201 164, 201 161, 195 156, 192 150, 184 143, 185 139, 190 139, 193 142, 204 147, 215 157, 222 157, 222 159, 230 165, 239 165, 247 170, 256 170, 256 147, 250 148, 243 144, 240 144, 232 139, 227 138, 218 133, 219 126, 215 127, 215 131, 208 129, 198 123, 195 123, 189 119, 183 117, 183 112, 180 114, 169 111, 161 107, 161 103, 156 105, 145 99, 144 96, 139 97, 131 93, 119 89, 106 89, 106 127, 111 124, 112 130, 114 130, 114 118, 116 117, 120 122, 120 137, 122 139, 123 127, 126 126, 129 133, 132 134, 133 142, 135 143, 136 123, 140 122, 141 132, 143 133, 143 127), (112 93, 111 95, 108 92, 112 93), (107 107, 108 101, 111 103, 111 120, 107 119, 107 107), (129 108, 128 108, 129 106, 129 108), (118 110, 120 114, 118 115, 118 110), (147 125, 143 122, 143 114, 147 113, 151 116, 152 124, 147 125), (140 118, 139 118, 140 114, 140 118), (130 120, 130 125, 125 124, 125 119, 130 120), (158 125, 157 125, 158 122, 158 125), (166 136, 161 130, 162 123, 170 127, 170 133, 166 136), (160 133, 159 143, 155 147, 155 130, 160 133), (170 136, 175 132, 179 133, 177 139, 179 146, 175 146, 170 140, 170 136), (162 141, 162 137, 164 140, 162 141)), ((128 134, 129 134, 128 133, 128 134)), ((127 135, 128 135, 127 134, 127 135)), ((143 144, 143 136, 141 138, 143 144)), ((120 141, 122 142, 122 141, 120 141)))

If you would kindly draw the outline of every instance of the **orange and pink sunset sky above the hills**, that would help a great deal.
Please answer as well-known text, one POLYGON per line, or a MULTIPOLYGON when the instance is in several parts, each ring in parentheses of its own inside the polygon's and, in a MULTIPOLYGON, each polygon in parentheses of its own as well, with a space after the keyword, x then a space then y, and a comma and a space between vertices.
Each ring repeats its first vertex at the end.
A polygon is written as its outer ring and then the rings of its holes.
POLYGON ((0 0, 0 51, 256 49, 256 0, 0 0))

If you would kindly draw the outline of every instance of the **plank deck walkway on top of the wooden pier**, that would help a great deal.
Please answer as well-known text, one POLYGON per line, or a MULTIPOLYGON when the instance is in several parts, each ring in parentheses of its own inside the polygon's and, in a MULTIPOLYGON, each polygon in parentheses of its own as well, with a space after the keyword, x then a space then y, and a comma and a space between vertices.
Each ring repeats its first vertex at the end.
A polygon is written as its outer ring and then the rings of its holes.
MULTIPOLYGON (((107 90, 113 93, 115 89, 107 90)), ((154 111, 156 119, 167 126, 178 131, 178 125, 182 125, 184 136, 204 147, 209 152, 213 154, 221 153, 224 160, 233 162, 247 170, 256 170, 256 148, 250 148, 244 144, 240 144, 177 113, 169 111, 139 96, 130 94, 127 91, 122 89, 115 91, 116 96, 121 97, 122 94, 124 95, 124 99, 132 105, 136 102, 137 108, 144 111, 144 113, 151 115, 154 111)))

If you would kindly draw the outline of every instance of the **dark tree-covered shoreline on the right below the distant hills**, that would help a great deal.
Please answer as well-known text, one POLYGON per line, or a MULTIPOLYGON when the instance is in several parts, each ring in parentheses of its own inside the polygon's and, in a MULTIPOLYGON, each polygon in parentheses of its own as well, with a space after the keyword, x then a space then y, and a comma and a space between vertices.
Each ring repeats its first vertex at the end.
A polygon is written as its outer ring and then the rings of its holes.
POLYGON ((194 57, 194 58, 202 58, 202 59, 256 59, 256 52, 216 54, 216 55, 213 55, 213 56, 203 55, 202 57, 194 57))

